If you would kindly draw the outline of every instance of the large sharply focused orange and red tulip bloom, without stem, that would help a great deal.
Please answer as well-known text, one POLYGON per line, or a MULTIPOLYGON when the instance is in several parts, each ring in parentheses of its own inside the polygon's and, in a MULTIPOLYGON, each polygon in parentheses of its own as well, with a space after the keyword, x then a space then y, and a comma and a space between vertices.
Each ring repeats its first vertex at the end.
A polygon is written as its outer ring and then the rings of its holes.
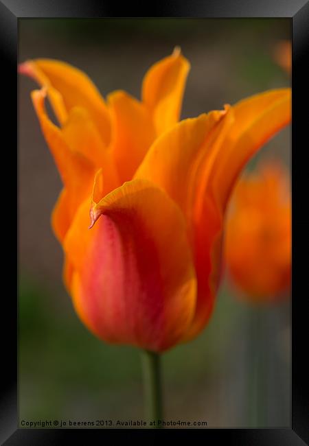
POLYGON ((178 123, 189 67, 176 49, 146 73, 141 101, 116 91, 105 102, 68 64, 21 64, 43 86, 32 100, 64 184, 52 225, 65 283, 107 342, 160 352, 205 327, 233 183, 290 121, 290 89, 278 89, 178 123))

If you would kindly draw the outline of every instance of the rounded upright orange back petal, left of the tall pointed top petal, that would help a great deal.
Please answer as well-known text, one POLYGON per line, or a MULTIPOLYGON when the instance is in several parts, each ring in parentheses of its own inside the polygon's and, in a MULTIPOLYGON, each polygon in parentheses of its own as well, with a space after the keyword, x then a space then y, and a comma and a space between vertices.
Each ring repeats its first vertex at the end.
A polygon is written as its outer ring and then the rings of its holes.
POLYGON ((122 184, 133 177, 144 159, 155 139, 155 128, 146 106, 124 91, 108 95, 108 107, 112 120, 111 150, 122 184))

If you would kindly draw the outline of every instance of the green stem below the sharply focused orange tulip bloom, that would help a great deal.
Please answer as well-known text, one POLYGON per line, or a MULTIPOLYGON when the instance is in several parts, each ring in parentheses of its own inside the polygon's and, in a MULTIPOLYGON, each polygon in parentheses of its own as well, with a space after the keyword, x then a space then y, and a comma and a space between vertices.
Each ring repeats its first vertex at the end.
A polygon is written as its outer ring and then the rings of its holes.
POLYGON ((142 363, 144 373, 145 406, 149 427, 162 427, 159 421, 163 421, 163 401, 161 389, 161 357, 153 351, 142 351, 142 363), (154 423, 155 422, 155 423, 154 423))

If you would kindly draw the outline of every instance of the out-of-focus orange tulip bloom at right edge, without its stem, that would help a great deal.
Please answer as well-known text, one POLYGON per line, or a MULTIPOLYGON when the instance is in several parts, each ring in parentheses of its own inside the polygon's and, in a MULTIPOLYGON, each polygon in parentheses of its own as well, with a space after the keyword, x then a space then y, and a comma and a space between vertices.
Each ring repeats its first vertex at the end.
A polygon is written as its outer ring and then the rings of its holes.
POLYGON ((264 163, 236 186, 227 219, 225 257, 235 285, 251 301, 288 295, 291 271, 289 176, 264 163))

